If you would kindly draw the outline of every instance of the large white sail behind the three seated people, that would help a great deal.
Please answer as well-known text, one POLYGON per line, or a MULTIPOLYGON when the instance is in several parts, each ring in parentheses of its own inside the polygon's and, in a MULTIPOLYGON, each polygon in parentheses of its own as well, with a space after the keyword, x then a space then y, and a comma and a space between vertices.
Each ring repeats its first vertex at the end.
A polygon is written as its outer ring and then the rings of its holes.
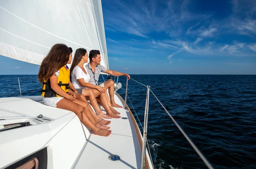
POLYGON ((0 55, 40 65, 64 43, 99 50, 109 69, 101 0, 1 0, 0 16, 0 55))

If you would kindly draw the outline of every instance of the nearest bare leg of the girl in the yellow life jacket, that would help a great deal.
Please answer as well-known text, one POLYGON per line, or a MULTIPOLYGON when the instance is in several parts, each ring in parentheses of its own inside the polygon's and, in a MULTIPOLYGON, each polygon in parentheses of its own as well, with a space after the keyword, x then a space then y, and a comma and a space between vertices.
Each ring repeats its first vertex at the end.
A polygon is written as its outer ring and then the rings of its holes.
POLYGON ((85 126, 88 126, 90 129, 92 129, 92 131, 94 132, 95 135, 109 136, 111 134, 111 130, 100 129, 99 127, 95 126, 92 123, 92 121, 85 114, 84 108, 82 106, 80 106, 79 104, 74 103, 73 101, 70 101, 66 98, 61 99, 57 103, 57 108, 75 112, 76 115, 79 117, 80 121, 85 126))

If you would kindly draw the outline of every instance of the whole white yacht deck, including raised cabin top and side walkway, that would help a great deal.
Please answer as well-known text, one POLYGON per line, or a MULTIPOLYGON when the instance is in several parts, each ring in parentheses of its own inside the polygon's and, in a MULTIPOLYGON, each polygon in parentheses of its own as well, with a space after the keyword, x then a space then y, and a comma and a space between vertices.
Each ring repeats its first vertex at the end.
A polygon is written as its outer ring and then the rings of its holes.
MULTIPOLYGON (((141 141, 134 117, 126 109, 115 108, 121 117, 128 119, 108 119, 112 134, 101 137, 90 134, 75 113, 44 105, 41 97, 0 98, 0 125, 29 121, 32 126, 0 132, 0 168, 15 163, 22 158, 47 147, 48 169, 139 169, 141 167, 141 141), (38 121, 37 116, 51 119, 38 121), (36 119, 31 119, 36 118, 36 119), (34 137, 32 137, 34 136, 34 137), (33 139, 31 139, 33 138, 33 139), (15 143, 14 143, 15 142, 15 143), (14 155, 15 154, 15 155, 14 155), (120 160, 108 157, 118 155, 120 160)), ((115 95, 116 103, 123 105, 115 95)), ((147 153, 148 154, 148 153, 147 153)), ((152 168, 146 158, 146 168, 152 168)))

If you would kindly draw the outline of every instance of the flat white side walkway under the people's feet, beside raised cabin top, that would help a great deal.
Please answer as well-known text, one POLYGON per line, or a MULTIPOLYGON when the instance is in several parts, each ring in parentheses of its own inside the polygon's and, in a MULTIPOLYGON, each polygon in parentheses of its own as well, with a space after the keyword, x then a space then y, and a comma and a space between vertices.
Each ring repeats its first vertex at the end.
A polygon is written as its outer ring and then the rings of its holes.
MULTIPOLYGON (((117 104, 123 106, 117 96, 115 96, 115 100, 117 104)), ((110 119, 111 124, 109 126, 112 134, 108 137, 91 135, 75 164, 75 169, 81 169, 84 166, 93 169, 140 168, 140 146, 131 117, 128 111, 123 108, 114 109, 121 113, 121 117, 128 117, 129 119, 110 119), (120 160, 109 160, 110 155, 119 155, 120 160)))

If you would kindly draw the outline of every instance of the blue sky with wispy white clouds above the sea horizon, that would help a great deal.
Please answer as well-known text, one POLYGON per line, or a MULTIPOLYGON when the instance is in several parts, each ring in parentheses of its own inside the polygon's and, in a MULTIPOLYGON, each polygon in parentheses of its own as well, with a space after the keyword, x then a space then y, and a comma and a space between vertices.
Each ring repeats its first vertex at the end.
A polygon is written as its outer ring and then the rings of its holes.
MULTIPOLYGON (((102 0, 110 69, 256 74, 256 0, 102 0)), ((0 56, 0 74, 39 66, 0 56)))

